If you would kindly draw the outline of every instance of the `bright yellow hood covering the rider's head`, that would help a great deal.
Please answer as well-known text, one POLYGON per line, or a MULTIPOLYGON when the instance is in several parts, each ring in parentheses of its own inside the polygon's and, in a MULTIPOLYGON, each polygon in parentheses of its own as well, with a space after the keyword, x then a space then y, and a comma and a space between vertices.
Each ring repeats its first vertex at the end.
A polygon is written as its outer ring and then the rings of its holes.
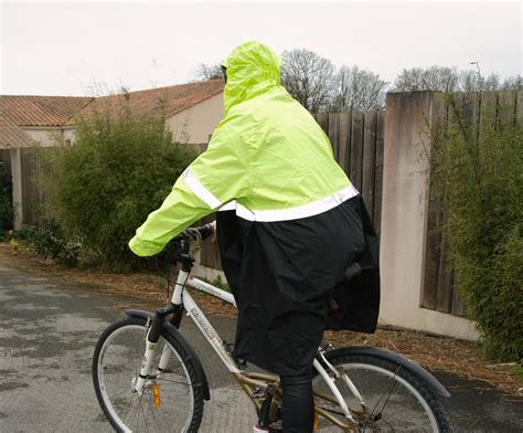
POLYGON ((225 116, 234 105, 279 86, 281 57, 263 43, 252 41, 235 47, 222 64, 227 68, 225 116))

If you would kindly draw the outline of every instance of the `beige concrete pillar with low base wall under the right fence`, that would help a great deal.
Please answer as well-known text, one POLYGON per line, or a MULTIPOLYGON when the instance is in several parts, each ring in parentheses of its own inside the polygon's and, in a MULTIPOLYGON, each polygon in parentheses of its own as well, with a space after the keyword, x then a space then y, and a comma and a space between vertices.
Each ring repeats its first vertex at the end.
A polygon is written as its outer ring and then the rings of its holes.
POLYGON ((433 94, 388 94, 381 233, 381 321, 474 340, 472 320, 420 307, 426 241, 427 120, 433 94))

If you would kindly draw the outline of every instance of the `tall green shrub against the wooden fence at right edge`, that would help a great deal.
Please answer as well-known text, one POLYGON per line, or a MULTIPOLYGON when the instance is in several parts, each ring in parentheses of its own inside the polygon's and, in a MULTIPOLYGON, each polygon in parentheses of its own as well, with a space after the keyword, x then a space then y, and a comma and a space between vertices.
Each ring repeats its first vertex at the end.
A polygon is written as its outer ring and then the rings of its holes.
POLYGON ((477 320, 485 355, 523 357, 523 129, 497 117, 468 124, 450 102, 431 151, 431 193, 441 203, 449 265, 477 320))

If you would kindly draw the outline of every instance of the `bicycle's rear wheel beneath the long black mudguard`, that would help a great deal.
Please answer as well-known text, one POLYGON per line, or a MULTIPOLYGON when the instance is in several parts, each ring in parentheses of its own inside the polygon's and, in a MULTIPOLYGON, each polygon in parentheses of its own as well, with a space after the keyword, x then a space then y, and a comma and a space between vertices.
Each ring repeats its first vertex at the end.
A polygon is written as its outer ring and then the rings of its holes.
MULTIPOLYGON (((398 363, 373 355, 351 353, 350 348, 339 350, 329 362, 345 371, 364 400, 362 406, 344 382, 337 380, 362 432, 450 432, 444 408, 434 390, 398 363)), ((333 399, 320 376, 314 377, 313 388, 333 399)), ((341 408, 332 401, 317 395, 316 405, 338 419, 343 418, 341 408)), ((340 432, 340 427, 320 416, 318 431, 340 432)))

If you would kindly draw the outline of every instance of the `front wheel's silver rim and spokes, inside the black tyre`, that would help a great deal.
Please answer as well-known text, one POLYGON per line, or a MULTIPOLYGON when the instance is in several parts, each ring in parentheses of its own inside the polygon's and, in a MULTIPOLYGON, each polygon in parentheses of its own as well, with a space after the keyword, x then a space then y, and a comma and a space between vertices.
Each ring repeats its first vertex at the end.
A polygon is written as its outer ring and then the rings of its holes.
POLYGON ((157 372, 166 346, 171 351, 167 369, 151 374, 142 395, 134 391, 143 359, 145 336, 145 326, 124 325, 104 341, 97 377, 105 412, 121 432, 185 432, 194 413, 191 377, 180 355, 163 337, 158 341, 151 372, 157 372))

